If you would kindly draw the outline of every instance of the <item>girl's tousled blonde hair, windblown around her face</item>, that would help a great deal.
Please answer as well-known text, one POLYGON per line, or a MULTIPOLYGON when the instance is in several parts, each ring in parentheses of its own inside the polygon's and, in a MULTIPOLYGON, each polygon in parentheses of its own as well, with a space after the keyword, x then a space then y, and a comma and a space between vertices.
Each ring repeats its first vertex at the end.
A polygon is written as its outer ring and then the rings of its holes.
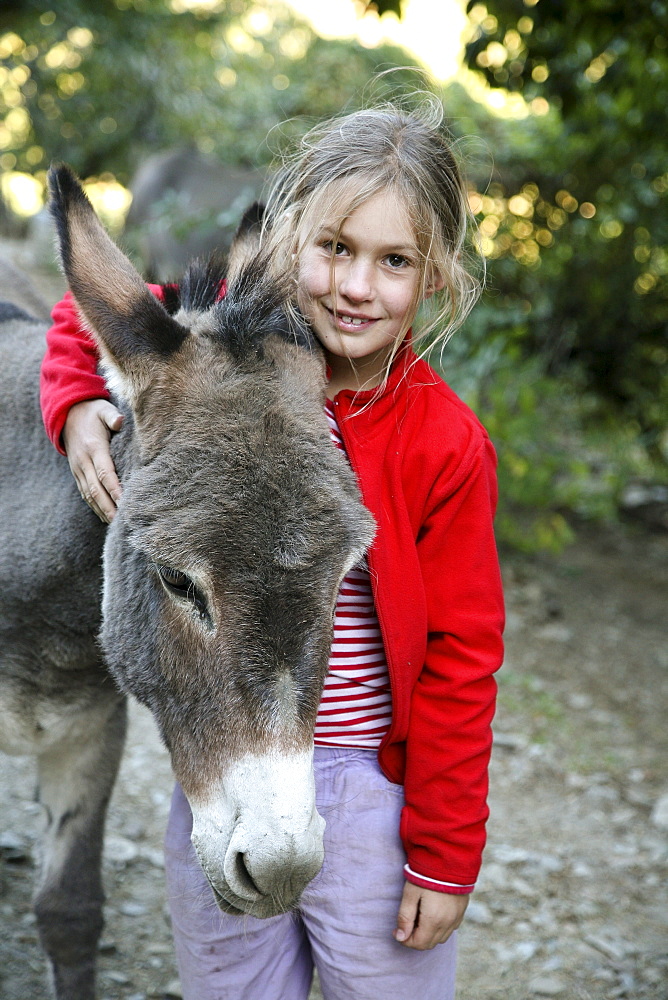
MULTIPOLYGON (((444 345, 473 308, 482 284, 474 260, 484 276, 484 259, 468 249, 477 230, 443 118, 440 101, 425 95, 411 109, 383 104, 316 125, 283 162, 265 215, 272 257, 279 269, 290 270, 323 221, 340 230, 373 195, 394 193, 408 213, 421 271, 404 334, 435 278, 443 283, 433 293, 429 319, 413 331, 414 345, 422 342, 425 350, 444 345)), ((402 340, 397 338, 385 377, 402 340)))

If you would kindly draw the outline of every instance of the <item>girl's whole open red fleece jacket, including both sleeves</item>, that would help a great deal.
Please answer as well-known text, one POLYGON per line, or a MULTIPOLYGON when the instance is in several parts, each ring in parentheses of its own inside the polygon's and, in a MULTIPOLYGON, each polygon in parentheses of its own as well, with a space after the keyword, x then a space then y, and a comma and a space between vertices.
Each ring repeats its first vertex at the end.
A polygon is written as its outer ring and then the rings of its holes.
MULTIPOLYGON (((109 394, 69 295, 53 319, 42 411, 62 451, 69 408, 109 394)), ((344 390, 334 406, 378 525, 369 566, 392 687, 378 758, 404 786, 406 877, 467 892, 485 842, 493 674, 503 655, 496 456, 472 411, 409 346, 382 391, 344 390)))

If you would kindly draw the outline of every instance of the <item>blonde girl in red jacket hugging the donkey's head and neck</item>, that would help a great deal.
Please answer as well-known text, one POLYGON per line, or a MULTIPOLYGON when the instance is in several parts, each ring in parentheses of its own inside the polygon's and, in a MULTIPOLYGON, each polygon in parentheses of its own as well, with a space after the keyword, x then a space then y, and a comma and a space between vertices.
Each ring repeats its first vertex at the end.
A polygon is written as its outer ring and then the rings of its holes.
MULTIPOLYGON (((455 935, 480 867, 493 673, 502 658, 495 456, 414 351, 418 306, 443 341, 471 308, 466 189, 440 105, 328 122, 270 193, 269 242, 329 368, 327 418, 378 526, 344 580, 315 732, 325 864, 294 913, 221 914, 177 787, 166 868, 186 1000, 454 997, 455 935)), ((171 291, 154 287, 164 298, 171 291)), ((47 431, 111 520, 121 415, 69 297, 42 372, 47 431)))

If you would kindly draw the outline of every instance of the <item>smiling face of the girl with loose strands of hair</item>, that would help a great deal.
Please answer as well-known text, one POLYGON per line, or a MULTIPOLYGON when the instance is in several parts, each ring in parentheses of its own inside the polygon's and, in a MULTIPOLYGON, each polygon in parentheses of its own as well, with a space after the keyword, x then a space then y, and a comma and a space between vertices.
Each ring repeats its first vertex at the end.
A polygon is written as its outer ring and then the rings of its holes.
POLYGON ((302 248, 299 304, 334 373, 359 370, 365 385, 377 385, 413 320, 421 280, 415 237, 402 202, 387 191, 351 212, 338 237, 336 230, 325 221, 302 248))

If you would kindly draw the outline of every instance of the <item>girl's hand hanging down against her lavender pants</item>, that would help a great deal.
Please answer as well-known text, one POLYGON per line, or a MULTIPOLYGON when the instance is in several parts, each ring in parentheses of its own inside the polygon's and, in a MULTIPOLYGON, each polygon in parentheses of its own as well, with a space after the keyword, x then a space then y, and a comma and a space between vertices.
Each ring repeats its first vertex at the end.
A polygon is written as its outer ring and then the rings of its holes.
POLYGON ((406 882, 394 931, 395 940, 418 951, 443 944, 461 924, 468 903, 468 896, 433 892, 406 882))

